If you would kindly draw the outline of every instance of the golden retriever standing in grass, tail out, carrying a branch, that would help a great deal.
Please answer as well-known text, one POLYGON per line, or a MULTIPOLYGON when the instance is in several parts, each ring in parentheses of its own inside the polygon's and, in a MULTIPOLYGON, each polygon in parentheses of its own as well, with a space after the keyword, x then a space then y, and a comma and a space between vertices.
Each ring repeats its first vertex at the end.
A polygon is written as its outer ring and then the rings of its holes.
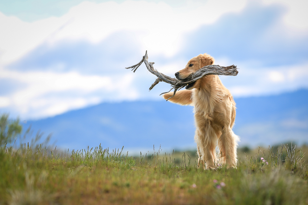
MULTIPOLYGON (((178 80, 183 80, 198 69, 213 65, 214 61, 210 55, 200 54, 190 59, 186 67, 176 72, 175 76, 178 80)), ((172 95, 173 92, 169 92, 163 97, 167 100, 172 95)), ((206 75, 188 84, 185 90, 177 91, 169 101, 194 106, 198 168, 200 164, 203 169, 215 169, 218 164, 236 168, 239 137, 232 131, 236 107, 231 93, 221 83, 218 75, 206 75), (220 151, 218 156, 216 146, 220 151)))

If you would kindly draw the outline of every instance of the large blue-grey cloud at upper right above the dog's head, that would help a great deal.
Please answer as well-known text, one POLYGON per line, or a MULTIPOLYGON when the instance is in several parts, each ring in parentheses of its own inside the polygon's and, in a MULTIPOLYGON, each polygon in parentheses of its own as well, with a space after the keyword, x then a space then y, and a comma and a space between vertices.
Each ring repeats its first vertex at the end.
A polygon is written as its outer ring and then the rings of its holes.
POLYGON ((241 12, 225 14, 214 24, 186 34, 183 50, 185 53, 206 50, 215 58, 250 61, 261 67, 305 63, 308 33, 290 34, 290 28, 282 21, 285 14, 282 5, 249 2, 241 12))

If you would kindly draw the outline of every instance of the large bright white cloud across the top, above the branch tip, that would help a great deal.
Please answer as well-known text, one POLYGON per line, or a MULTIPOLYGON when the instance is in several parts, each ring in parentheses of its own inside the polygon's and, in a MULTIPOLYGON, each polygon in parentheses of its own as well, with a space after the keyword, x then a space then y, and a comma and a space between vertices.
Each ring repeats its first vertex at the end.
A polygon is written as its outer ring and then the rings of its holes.
POLYGON ((32 23, 0 13, 0 64, 17 60, 44 41, 53 44, 65 38, 86 38, 95 43, 120 30, 135 31, 142 42, 140 50, 172 56, 179 50, 184 32, 213 23, 227 12, 238 12, 245 2, 210 0, 178 8, 164 2, 82 2, 62 17, 32 23))

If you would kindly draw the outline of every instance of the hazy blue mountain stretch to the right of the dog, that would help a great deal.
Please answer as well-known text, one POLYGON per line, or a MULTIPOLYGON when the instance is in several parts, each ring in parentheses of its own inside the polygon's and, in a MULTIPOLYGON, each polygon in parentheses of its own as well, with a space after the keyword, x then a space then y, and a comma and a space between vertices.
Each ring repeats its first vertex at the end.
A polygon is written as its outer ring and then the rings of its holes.
POLYGON ((234 132, 240 145, 308 143, 308 90, 267 97, 235 99, 234 132))

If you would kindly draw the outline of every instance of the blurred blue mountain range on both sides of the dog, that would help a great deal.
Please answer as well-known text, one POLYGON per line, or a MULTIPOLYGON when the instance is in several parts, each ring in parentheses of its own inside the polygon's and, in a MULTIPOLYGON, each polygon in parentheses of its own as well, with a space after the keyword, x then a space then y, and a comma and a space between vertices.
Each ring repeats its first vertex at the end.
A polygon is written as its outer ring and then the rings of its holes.
MULTIPOLYGON (((234 132, 240 146, 308 142, 308 90, 267 97, 237 98, 234 132)), ((34 131, 52 133, 59 148, 122 148, 130 152, 194 148, 193 107, 162 101, 102 103, 42 120, 34 131)))

